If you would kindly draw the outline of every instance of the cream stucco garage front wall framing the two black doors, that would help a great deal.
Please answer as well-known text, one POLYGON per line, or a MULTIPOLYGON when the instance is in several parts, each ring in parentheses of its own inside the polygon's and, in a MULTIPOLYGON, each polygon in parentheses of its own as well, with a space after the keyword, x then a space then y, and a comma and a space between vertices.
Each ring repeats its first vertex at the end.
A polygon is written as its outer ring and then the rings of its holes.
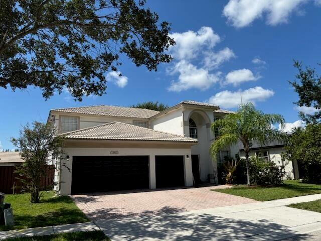
MULTIPOLYGON (((69 155, 69 161, 66 167, 61 170, 60 194, 71 194, 72 181, 72 160, 73 156, 149 156, 149 186, 151 189, 156 187, 155 178, 155 156, 177 155, 184 156, 185 185, 193 185, 191 149, 158 149, 158 148, 64 148, 66 155, 69 155), (118 155, 110 155, 110 151, 118 151, 118 155), (189 158, 187 158, 187 155, 189 158)), ((58 175, 58 173, 56 173, 58 175)))

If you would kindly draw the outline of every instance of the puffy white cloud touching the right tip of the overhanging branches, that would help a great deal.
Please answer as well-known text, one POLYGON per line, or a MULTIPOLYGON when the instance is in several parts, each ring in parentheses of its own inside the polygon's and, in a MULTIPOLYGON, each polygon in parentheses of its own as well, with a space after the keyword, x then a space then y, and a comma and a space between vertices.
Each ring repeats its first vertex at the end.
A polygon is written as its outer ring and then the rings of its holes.
POLYGON ((176 41, 169 49, 170 54, 179 60, 195 58, 201 50, 211 49, 220 41, 220 36, 211 27, 202 27, 197 32, 173 33, 170 37, 176 41))

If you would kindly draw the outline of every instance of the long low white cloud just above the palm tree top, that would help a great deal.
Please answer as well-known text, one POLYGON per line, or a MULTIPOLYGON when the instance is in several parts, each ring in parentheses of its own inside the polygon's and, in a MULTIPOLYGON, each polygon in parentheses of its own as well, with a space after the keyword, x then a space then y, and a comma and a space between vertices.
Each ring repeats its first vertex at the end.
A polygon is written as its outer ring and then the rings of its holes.
POLYGON ((256 86, 243 91, 238 90, 231 92, 229 90, 224 90, 210 97, 208 102, 211 104, 217 104, 223 108, 234 108, 241 104, 241 96, 243 103, 252 102, 255 104, 256 101, 264 101, 273 95, 273 90, 263 89, 260 86, 256 86))

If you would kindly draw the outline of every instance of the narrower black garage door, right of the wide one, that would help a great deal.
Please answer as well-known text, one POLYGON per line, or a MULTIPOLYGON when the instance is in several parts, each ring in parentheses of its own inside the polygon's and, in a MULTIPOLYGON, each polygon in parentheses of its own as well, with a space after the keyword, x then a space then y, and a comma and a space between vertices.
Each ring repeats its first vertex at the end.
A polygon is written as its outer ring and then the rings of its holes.
POLYGON ((156 187, 184 186, 184 156, 155 156, 156 187))

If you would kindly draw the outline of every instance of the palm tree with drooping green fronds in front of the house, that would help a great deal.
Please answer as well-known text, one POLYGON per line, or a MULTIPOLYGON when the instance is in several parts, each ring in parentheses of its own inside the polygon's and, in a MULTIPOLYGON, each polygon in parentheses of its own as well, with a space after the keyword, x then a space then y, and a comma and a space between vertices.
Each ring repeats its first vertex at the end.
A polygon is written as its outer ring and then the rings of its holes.
POLYGON ((280 130, 273 128, 273 125, 281 124, 284 128, 284 118, 280 114, 264 114, 255 109, 249 102, 242 104, 235 113, 227 114, 222 119, 212 123, 211 130, 219 129, 220 136, 213 142, 210 148, 212 157, 222 148, 230 145, 237 145, 240 141, 244 146, 245 163, 247 172, 247 184, 251 185, 249 170, 249 148, 251 142, 258 142, 264 145, 267 140, 287 141, 288 137, 280 130))

